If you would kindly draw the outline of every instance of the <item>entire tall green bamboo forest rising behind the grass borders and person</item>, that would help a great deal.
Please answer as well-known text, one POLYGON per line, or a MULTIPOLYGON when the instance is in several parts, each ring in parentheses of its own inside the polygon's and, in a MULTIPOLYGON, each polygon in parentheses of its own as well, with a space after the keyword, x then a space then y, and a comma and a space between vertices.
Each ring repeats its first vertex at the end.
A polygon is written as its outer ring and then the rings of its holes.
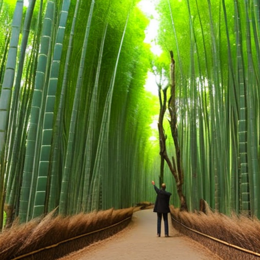
POLYGON ((0 30, 0 223, 153 202, 152 180, 260 217, 258 0, 0 0, 0 30))

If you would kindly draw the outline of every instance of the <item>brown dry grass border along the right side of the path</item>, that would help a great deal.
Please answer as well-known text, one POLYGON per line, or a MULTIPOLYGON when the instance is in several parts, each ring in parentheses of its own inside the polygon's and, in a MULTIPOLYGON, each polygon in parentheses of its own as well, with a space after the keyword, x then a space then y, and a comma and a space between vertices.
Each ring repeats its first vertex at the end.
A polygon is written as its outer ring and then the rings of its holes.
MULTIPOLYGON (((225 216, 220 213, 180 212, 171 206, 172 216, 181 224, 226 243, 260 253, 260 221, 245 216, 225 216)), ((176 221, 174 227, 181 233, 197 240, 225 260, 259 259, 258 256, 221 244, 207 237, 187 230, 176 221)))

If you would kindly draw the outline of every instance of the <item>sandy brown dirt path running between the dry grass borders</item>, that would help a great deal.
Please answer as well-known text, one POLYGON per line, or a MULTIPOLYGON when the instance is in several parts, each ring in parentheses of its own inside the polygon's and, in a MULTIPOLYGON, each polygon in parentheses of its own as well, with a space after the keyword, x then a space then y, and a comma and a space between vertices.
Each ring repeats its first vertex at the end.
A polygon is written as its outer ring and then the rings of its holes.
MULTIPOLYGON (((161 230, 164 231, 163 221, 161 230)), ((59 260, 157 260, 161 257, 178 260, 220 259, 201 244, 173 229, 170 214, 169 233, 168 238, 157 238, 156 214, 152 209, 142 210, 134 213, 132 222, 125 230, 59 260)))

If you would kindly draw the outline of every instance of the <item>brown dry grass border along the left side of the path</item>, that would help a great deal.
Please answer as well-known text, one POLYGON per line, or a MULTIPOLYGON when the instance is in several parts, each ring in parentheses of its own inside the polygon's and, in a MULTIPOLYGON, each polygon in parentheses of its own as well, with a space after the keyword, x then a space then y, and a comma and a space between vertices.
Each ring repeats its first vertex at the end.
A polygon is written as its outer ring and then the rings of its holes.
MULTIPOLYGON (((122 230, 131 219, 109 229, 105 228, 128 217, 131 218, 133 212, 134 208, 109 209, 89 214, 80 213, 70 217, 54 217, 51 212, 42 220, 36 219, 26 224, 14 225, 0 234, 0 259, 11 260, 32 251, 38 251, 34 254, 34 259, 59 258, 122 230), (84 234, 89 235, 81 236, 84 234), (78 236, 81 237, 73 239, 78 236), (66 240, 70 241, 66 242, 66 240), (63 242, 60 243, 61 241, 63 242), (50 248, 39 250, 45 247, 50 248)), ((31 257, 30 255, 21 259, 31 259, 31 257)))

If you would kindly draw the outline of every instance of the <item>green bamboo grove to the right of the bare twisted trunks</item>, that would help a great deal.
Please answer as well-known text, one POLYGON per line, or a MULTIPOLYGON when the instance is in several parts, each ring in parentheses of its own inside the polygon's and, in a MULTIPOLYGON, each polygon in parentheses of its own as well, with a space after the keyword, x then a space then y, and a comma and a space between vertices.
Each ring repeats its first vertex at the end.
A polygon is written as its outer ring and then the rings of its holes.
POLYGON ((258 6, 161 0, 158 10, 157 41, 176 60, 189 207, 198 209, 202 198, 224 213, 259 216, 258 6))

